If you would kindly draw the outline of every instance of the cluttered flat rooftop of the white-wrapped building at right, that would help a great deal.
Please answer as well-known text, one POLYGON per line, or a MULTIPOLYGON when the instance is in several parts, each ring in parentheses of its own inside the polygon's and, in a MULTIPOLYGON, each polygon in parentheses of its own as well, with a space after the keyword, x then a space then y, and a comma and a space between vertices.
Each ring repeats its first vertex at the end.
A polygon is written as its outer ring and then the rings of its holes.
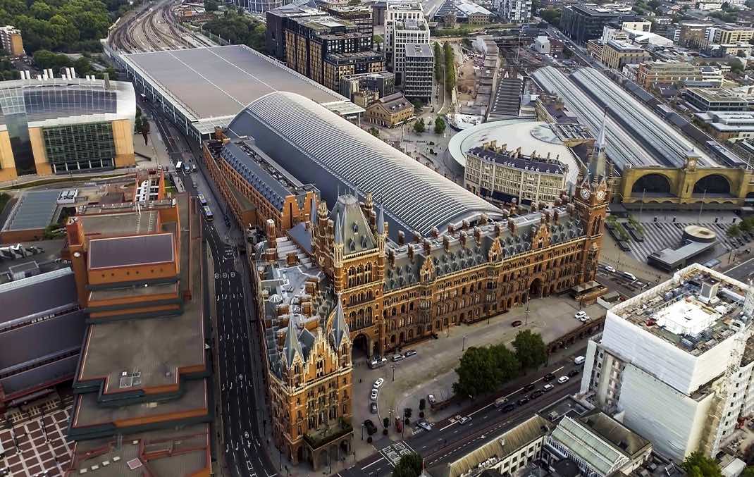
POLYGON ((693 264, 672 280, 624 301, 612 313, 700 356, 740 328, 746 290, 737 280, 693 264))

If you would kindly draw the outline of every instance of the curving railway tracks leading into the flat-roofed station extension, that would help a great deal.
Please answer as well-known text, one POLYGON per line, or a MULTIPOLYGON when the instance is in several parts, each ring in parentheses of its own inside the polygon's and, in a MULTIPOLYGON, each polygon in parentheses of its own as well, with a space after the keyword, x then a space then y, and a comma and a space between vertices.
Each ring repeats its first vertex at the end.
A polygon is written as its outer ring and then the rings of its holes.
POLYGON ((173 2, 157 2, 126 20, 118 20, 112 27, 108 42, 124 53, 179 50, 213 46, 214 44, 184 29, 176 23, 173 2))

